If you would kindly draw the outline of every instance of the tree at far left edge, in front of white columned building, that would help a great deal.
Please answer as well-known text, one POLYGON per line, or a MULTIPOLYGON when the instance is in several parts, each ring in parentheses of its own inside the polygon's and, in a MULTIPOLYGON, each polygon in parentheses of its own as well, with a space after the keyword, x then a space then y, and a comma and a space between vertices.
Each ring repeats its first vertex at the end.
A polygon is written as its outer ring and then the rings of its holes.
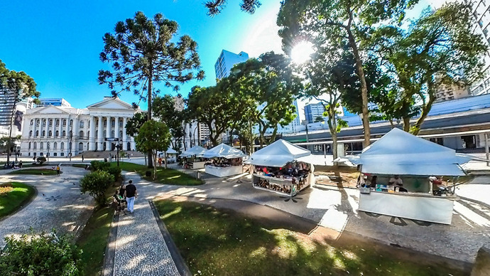
POLYGON ((37 98, 40 96, 40 92, 36 90, 36 82, 33 78, 23 71, 16 72, 7 69, 5 63, 0 60, 0 93, 9 96, 5 98, 11 99, 12 112, 10 114, 9 140, 6 144, 6 147, 9 150, 7 154, 7 163, 9 163, 10 149, 13 147, 13 118, 16 113, 17 104, 18 102, 26 100, 28 97, 36 97, 35 102, 38 102, 37 98))

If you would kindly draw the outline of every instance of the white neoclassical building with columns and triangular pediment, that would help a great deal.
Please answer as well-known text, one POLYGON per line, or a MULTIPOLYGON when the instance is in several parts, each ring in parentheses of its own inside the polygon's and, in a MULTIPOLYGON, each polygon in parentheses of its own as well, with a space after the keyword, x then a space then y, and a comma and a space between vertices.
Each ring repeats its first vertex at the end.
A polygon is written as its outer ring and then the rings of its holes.
POLYGON ((115 150, 119 137, 123 150, 136 149, 134 138, 126 134, 126 122, 136 112, 117 97, 104 97, 87 108, 36 107, 23 117, 22 156, 75 156, 87 151, 115 150))

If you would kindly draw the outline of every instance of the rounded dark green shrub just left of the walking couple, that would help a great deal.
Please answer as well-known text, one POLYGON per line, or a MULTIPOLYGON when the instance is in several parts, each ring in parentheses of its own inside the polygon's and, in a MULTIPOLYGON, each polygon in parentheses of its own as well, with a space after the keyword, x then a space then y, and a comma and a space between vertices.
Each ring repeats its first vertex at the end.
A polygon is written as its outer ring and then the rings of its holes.
POLYGON ((80 189, 82 193, 88 192, 99 205, 102 205, 106 201, 104 193, 113 183, 114 176, 107 171, 94 171, 80 180, 80 189))

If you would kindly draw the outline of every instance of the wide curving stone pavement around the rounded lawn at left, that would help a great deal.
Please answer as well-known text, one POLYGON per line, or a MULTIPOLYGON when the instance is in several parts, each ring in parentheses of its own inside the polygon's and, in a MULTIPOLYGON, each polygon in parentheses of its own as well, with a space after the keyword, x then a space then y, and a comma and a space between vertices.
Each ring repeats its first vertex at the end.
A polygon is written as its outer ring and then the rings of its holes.
POLYGON ((94 206, 92 197, 80 194, 78 186, 87 171, 69 166, 62 166, 61 176, 8 175, 10 171, 0 170, 0 183, 23 182, 36 187, 38 195, 28 206, 0 221, 0 248, 5 246, 6 236, 29 234, 30 228, 36 233, 53 228, 58 234, 80 233, 94 206))

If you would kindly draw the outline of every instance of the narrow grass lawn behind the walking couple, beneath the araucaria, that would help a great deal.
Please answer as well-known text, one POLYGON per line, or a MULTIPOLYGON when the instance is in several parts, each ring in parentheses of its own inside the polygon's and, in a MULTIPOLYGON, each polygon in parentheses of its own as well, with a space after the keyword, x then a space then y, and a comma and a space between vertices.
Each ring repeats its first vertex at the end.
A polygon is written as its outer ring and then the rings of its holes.
MULTIPOLYGON (((117 164, 115 162, 112 162, 111 166, 117 166, 117 164)), ((153 174, 153 169, 148 169, 144 165, 119 162, 119 166, 123 171, 136 171, 139 175, 141 175, 141 177, 143 177, 143 179, 153 181, 151 177, 145 176, 146 171, 151 171, 151 174, 153 174)), ((199 179, 195 179, 194 177, 175 169, 158 168, 156 176, 157 179, 155 180, 155 182, 160 184, 172 184, 182 186, 196 186, 203 184, 202 181, 200 181, 199 179)))

